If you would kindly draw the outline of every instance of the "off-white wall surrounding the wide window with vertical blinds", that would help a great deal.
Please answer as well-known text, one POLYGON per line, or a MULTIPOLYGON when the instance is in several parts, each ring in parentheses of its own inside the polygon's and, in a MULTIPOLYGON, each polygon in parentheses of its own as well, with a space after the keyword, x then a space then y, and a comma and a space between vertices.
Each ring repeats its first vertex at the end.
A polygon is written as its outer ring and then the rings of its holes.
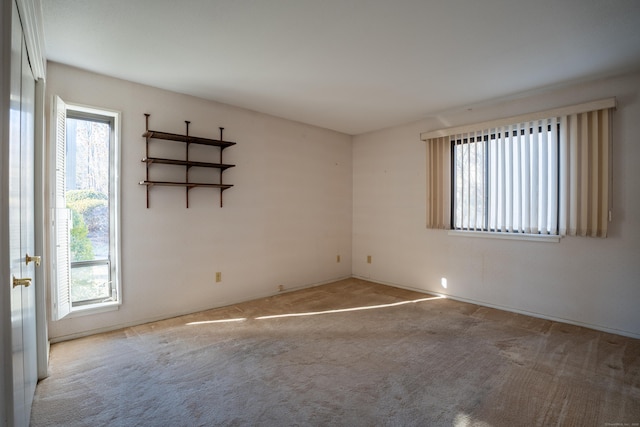
POLYGON ((353 274, 640 337, 640 74, 462 108, 353 140, 353 274), (615 96, 610 237, 560 243, 427 230, 420 132, 615 96), (367 264, 367 255, 372 263, 367 264), (440 279, 448 280, 448 288, 440 279))

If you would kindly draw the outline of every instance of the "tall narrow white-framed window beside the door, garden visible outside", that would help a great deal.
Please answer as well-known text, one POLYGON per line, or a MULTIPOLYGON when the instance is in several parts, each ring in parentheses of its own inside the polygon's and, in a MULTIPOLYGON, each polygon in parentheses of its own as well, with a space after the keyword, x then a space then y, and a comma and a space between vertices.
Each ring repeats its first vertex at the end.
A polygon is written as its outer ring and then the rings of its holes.
POLYGON ((54 318, 114 307, 119 280, 117 112, 55 99, 54 318))

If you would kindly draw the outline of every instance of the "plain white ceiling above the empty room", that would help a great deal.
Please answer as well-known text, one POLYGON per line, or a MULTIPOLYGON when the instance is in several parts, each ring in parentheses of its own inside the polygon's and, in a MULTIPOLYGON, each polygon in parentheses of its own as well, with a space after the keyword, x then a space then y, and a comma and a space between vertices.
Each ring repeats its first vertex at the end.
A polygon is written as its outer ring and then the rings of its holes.
POLYGON ((359 134, 640 69, 638 0, 41 0, 47 59, 359 134))

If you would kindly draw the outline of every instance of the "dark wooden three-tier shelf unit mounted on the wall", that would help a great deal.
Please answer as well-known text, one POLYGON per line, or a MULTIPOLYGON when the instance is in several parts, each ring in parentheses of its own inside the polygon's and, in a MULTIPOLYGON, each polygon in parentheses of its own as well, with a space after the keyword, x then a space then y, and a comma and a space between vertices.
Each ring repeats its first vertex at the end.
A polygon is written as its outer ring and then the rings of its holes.
POLYGON ((232 184, 223 184, 222 182, 222 173, 235 165, 230 165, 228 163, 222 162, 222 152, 225 148, 231 147, 235 145, 235 142, 225 141, 222 137, 222 132, 224 128, 220 128, 220 139, 209 139, 209 138, 201 138, 197 136, 189 135, 189 121, 185 121, 186 124, 186 133, 184 135, 168 133, 168 132, 160 132, 155 130, 149 130, 149 116, 150 114, 145 114, 146 120, 146 131, 142 134, 146 141, 146 157, 142 159, 142 162, 146 165, 146 179, 144 181, 140 181, 140 185, 145 185, 147 187, 147 208, 149 208, 149 190, 153 186, 165 186, 165 187, 184 187, 186 189, 186 206, 189 207, 189 190, 196 187, 208 187, 208 188, 218 188, 220 189, 220 207, 223 206, 222 203, 222 192, 233 187, 232 184), (184 159, 167 159, 161 157, 150 157, 149 156, 149 142, 151 139, 160 139, 165 141, 174 141, 174 142, 183 142, 185 143, 185 158, 184 159), (220 162, 219 163, 210 163, 210 162, 200 162, 195 161, 189 158, 189 145, 190 144, 199 144, 199 145, 208 145, 211 147, 218 147, 220 149, 220 162), (173 165, 173 166, 183 166, 185 168, 185 179, 184 181, 156 181, 149 179, 149 168, 154 164, 160 165, 173 165), (219 182, 218 183, 203 183, 203 182, 192 182, 189 180, 189 169, 192 167, 198 168, 211 168, 218 169, 219 171, 219 182))

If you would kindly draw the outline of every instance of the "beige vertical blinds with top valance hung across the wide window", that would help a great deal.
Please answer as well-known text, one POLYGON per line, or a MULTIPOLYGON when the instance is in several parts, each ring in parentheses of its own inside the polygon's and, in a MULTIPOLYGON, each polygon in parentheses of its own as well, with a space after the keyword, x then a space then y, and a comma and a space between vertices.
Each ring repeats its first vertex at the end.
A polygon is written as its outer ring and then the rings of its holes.
POLYGON ((606 237, 614 107, 609 99, 422 134, 427 227, 606 237))

